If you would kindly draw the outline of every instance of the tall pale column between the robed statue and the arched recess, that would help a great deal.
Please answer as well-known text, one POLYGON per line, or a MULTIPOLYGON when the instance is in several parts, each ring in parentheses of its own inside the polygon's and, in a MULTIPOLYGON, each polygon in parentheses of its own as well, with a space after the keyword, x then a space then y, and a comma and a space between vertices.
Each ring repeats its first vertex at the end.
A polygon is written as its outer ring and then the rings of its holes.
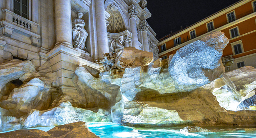
POLYGON ((109 52, 104 0, 95 0, 95 12, 99 59, 103 59, 102 54, 109 52))

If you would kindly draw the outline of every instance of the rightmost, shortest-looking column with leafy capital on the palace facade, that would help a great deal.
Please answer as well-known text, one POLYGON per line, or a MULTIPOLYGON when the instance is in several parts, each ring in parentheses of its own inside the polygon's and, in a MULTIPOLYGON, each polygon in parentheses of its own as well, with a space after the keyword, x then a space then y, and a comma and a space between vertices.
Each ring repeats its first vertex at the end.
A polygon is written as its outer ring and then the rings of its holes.
POLYGON ((139 29, 142 31, 144 51, 149 52, 149 40, 147 37, 147 30, 149 29, 149 25, 147 24, 147 22, 144 22, 144 23, 141 22, 139 25, 139 29))

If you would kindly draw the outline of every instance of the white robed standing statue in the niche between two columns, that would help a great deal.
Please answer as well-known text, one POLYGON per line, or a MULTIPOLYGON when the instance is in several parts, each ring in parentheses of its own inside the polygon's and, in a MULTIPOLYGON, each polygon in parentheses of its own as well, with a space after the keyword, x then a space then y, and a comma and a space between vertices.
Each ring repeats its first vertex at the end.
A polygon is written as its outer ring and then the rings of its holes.
POLYGON ((86 52, 88 55, 89 53, 87 52, 87 49, 85 47, 85 41, 88 36, 88 33, 86 32, 84 26, 85 26, 85 21, 82 20, 83 13, 82 12, 77 12, 77 17, 72 21, 72 38, 73 38, 73 47, 75 49, 81 49, 86 52))

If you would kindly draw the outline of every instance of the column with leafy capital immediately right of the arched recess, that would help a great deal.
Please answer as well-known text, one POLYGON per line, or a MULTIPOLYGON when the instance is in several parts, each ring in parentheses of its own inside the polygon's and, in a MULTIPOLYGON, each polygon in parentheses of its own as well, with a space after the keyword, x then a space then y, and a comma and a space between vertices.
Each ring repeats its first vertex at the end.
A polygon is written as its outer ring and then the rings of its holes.
POLYGON ((131 26, 131 32, 132 32, 132 47, 139 49, 139 40, 137 35, 137 25, 136 25, 136 18, 135 18, 137 14, 138 12, 135 10, 134 7, 132 7, 129 10, 130 26, 131 26))

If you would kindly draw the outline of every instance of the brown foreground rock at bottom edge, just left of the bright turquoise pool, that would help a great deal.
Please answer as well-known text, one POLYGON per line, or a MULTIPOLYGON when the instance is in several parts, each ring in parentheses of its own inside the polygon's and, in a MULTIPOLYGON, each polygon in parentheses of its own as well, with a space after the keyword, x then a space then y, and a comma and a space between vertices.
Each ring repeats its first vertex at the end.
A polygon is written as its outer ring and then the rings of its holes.
POLYGON ((99 138, 89 130, 85 122, 55 126, 47 133, 56 138, 99 138))

